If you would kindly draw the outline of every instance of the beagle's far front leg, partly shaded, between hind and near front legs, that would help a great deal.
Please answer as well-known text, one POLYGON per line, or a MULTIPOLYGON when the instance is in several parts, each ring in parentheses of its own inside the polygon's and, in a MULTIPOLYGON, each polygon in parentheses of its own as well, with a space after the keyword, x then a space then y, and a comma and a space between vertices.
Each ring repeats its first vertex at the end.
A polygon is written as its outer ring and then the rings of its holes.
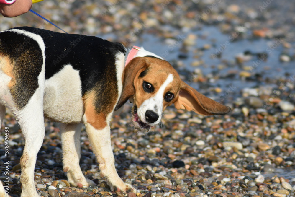
POLYGON ((80 168, 82 124, 60 124, 61 141, 63 148, 63 171, 67 172, 68 181, 72 186, 83 187, 95 185, 87 180, 80 168))

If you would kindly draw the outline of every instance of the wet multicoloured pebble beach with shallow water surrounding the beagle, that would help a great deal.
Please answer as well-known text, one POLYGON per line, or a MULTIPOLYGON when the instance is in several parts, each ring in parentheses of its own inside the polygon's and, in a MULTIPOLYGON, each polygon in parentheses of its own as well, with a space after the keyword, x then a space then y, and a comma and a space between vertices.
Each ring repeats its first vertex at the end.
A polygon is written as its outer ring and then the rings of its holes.
MULTIPOLYGON (((169 61, 187 84, 232 109, 202 116, 171 106, 158 126, 140 133, 126 103, 111 123, 117 172, 136 189, 125 196, 295 196, 293 2, 45 0, 32 9, 68 33, 143 46, 169 61)), ((62 32, 31 12, 0 17, 1 31, 19 26, 62 32)), ((8 182, 11 197, 22 192, 23 148, 24 137, 8 111, 1 126, 0 180, 8 182)), ((100 177, 85 127, 80 166, 95 185, 71 187, 58 124, 45 119, 35 166, 40 196, 117 196, 100 177)))

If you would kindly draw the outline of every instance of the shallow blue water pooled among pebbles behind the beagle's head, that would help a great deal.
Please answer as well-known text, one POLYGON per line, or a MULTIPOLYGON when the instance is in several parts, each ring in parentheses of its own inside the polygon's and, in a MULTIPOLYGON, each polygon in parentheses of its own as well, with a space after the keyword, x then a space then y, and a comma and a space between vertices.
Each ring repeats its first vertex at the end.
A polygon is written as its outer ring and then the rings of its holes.
MULTIPOLYGON (((240 34, 240 33, 237 33, 240 34)), ((236 35, 237 35, 236 34, 236 35)), ((247 32, 244 35, 247 36, 247 32)), ((189 32, 182 33, 175 29, 174 32, 175 41, 171 42, 171 39, 166 42, 165 38, 157 37, 153 34, 144 33, 140 35, 140 40, 134 45, 143 46, 146 50, 152 51, 153 53, 164 57, 173 66, 176 66, 175 62, 181 61, 184 66, 177 67, 177 70, 182 74, 187 75, 188 78, 193 76, 193 71, 195 69, 200 69, 204 76, 208 74, 219 75, 220 79, 216 82, 211 82, 213 86, 220 86, 222 88, 227 88, 231 84, 237 87, 237 91, 245 87, 254 87, 261 84, 259 81, 247 81, 241 80, 239 77, 240 71, 244 70, 244 67, 252 67, 252 71, 248 71, 254 74, 262 75, 262 78, 281 78, 285 77, 286 73, 291 76, 295 73, 294 61, 281 62, 279 56, 281 53, 286 52, 291 55, 294 54, 294 48, 284 49, 283 44, 277 39, 239 39, 234 38, 234 35, 223 34, 219 31, 218 27, 215 26, 203 26, 202 28, 196 30, 190 30, 189 32), (196 44, 194 46, 188 47, 187 53, 183 53, 181 49, 183 48, 183 40, 178 43, 178 38, 187 37, 189 34, 197 35, 196 44), (178 35, 178 36, 177 36, 178 35), (205 44, 212 45, 208 50, 204 50, 203 55, 199 59, 194 58, 196 55, 195 51, 200 51, 205 44), (223 47, 223 48, 222 48, 223 47), (222 51, 221 58, 212 58, 212 54, 216 55, 222 51), (260 61, 256 55, 253 55, 250 61, 244 62, 242 66, 235 63, 235 56, 242 54, 245 51, 250 51, 251 53, 266 53, 267 58, 263 58, 264 61, 260 61), (166 52, 166 54, 165 54, 166 52), (180 59, 179 56, 185 55, 187 58, 180 59), (191 66, 193 61, 202 60, 204 64, 194 67, 191 66), (225 63, 224 63, 225 62, 225 63), (223 64, 224 69, 218 70, 217 66, 223 64), (227 77, 229 71, 237 72, 234 77, 227 77), (191 76, 190 76, 191 75, 191 76)), ((109 35, 107 35, 109 36, 109 35)), ((106 36, 106 37, 107 37, 106 36)), ((261 60, 263 60, 261 58, 261 60)), ((199 85, 196 83, 192 84, 193 87, 198 88, 199 85)))

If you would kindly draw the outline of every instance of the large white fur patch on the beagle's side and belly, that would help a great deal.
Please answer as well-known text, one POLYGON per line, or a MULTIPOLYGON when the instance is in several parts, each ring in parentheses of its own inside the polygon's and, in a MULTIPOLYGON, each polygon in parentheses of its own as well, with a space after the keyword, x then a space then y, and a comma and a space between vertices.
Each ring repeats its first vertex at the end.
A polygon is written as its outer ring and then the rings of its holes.
POLYGON ((44 115, 61 123, 81 123, 84 113, 81 88, 79 71, 71 65, 64 66, 45 81, 44 115))

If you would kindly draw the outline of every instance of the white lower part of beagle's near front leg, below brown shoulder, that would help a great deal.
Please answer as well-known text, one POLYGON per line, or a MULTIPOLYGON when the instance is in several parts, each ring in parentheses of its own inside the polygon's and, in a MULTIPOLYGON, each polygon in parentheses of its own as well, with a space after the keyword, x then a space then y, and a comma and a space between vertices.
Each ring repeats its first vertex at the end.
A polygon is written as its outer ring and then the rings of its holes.
POLYGON ((93 152, 99 163, 101 177, 106 177, 111 189, 119 195, 134 190, 131 185, 122 181, 116 171, 109 123, 102 129, 95 129, 90 123, 85 123, 85 126, 93 152))

